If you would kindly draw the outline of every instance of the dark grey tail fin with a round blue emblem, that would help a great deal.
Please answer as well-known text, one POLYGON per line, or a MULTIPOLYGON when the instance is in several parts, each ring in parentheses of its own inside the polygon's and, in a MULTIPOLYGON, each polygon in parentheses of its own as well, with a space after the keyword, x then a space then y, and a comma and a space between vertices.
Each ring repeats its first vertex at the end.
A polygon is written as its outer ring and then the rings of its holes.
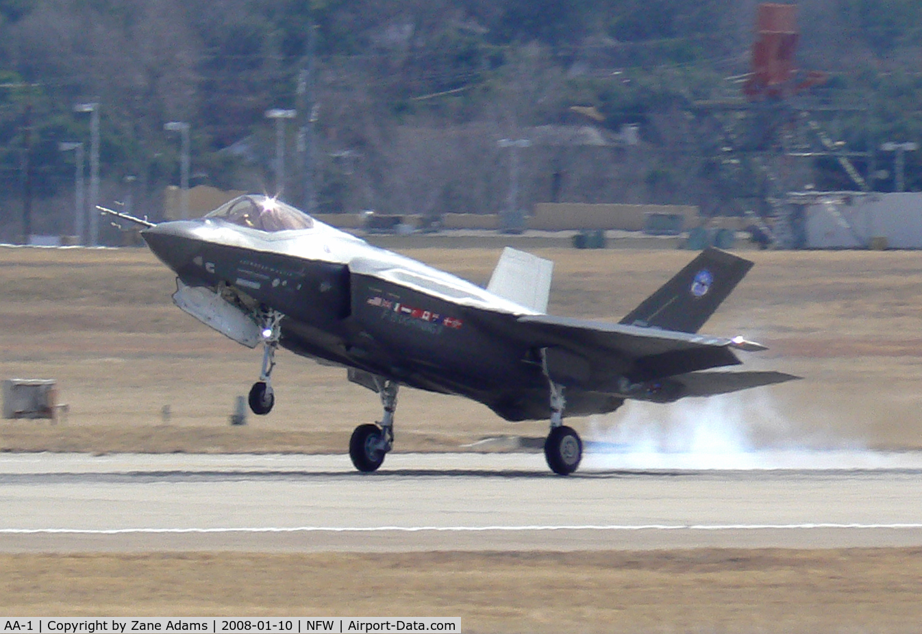
POLYGON ((705 249, 621 323, 697 333, 751 268, 733 253, 705 249))

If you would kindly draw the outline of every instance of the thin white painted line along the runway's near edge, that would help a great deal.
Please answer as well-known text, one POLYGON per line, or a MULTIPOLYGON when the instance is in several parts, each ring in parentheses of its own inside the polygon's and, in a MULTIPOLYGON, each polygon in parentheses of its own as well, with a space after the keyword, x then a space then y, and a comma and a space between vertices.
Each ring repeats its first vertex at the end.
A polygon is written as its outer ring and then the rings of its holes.
POLYGON ((485 533, 542 531, 790 531, 825 529, 922 529, 922 523, 859 524, 585 524, 562 526, 293 526, 242 528, 0 528, 0 534, 209 534, 209 533, 485 533))

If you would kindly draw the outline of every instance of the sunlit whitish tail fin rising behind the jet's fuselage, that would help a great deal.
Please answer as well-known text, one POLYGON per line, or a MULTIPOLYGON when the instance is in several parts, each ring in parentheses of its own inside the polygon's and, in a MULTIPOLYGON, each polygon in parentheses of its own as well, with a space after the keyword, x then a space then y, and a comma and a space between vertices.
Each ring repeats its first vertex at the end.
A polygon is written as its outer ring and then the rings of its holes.
POLYGON ((548 311, 554 263, 511 247, 502 250, 487 290, 536 312, 548 311))

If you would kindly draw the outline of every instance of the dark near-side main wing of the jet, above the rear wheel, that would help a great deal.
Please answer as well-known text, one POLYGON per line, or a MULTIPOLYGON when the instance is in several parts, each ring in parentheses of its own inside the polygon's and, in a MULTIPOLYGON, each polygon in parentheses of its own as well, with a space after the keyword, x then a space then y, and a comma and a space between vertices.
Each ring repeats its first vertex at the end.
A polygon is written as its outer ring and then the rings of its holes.
POLYGON ((727 339, 551 315, 525 315, 517 321, 525 327, 531 345, 548 349, 551 374, 564 384, 591 384, 595 389, 603 389, 597 383, 613 373, 632 382, 645 382, 738 365, 734 350, 765 349, 741 337, 727 339))

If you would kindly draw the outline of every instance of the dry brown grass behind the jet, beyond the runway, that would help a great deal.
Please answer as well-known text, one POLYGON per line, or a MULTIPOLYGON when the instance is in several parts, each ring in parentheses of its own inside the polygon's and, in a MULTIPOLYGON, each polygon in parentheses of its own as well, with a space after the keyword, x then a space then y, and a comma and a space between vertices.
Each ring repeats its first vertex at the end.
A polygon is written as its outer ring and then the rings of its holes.
MULTIPOLYGON (((408 251, 475 282, 492 250, 408 251)), ((691 258, 673 251, 538 250, 556 262, 550 311, 617 319, 691 258)), ((922 446, 922 252, 747 252, 756 261, 706 332, 771 346, 754 369, 805 381, 763 393, 792 438, 871 447, 922 446)), ((341 451, 354 426, 379 416, 376 397, 344 372, 282 351, 278 405, 231 429, 238 394, 258 372, 247 350, 171 305, 172 275, 145 250, 0 249, 0 377, 48 377, 70 405, 66 425, 5 421, 6 450, 112 452, 341 451), (171 420, 164 425, 163 405, 171 420)), ((748 398, 743 395, 742 398, 748 398)), ((630 406, 630 405, 629 405, 630 406)), ((604 419, 617 424, 619 415, 604 419)), ((585 429, 585 421, 575 421, 585 429)), ((541 436, 481 405, 406 390, 398 451, 456 449, 482 436, 541 436)), ((757 430, 758 431, 758 430, 757 430)), ((771 437, 767 434, 766 437, 771 437)))

